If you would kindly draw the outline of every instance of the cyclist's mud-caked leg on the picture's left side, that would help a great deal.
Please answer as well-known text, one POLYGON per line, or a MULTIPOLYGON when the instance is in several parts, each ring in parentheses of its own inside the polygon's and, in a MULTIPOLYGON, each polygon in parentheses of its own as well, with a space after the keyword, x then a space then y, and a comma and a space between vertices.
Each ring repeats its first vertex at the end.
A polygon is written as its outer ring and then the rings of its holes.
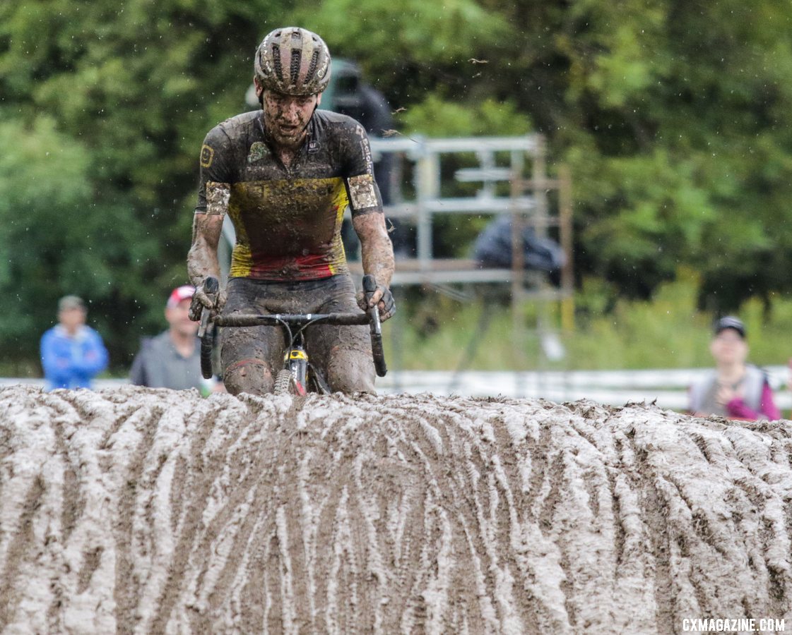
MULTIPOLYGON (((262 297, 265 284, 246 278, 230 278, 223 315, 267 312, 262 297)), ((284 335, 276 327, 227 327, 223 329, 220 364, 223 383, 231 395, 272 392, 275 376, 283 365, 284 335)))

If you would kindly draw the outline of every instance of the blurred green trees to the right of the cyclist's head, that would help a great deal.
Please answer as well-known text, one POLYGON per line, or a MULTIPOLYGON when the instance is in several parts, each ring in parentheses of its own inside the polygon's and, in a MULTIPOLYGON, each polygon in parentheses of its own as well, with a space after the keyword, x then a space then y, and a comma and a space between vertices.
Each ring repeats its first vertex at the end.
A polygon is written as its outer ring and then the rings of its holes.
POLYGON ((649 297, 689 264, 722 310, 790 288, 789 14, 789 0, 326 0, 307 19, 409 107, 406 130, 431 123, 415 108, 447 134, 459 110, 516 104, 573 168, 581 274, 649 297))

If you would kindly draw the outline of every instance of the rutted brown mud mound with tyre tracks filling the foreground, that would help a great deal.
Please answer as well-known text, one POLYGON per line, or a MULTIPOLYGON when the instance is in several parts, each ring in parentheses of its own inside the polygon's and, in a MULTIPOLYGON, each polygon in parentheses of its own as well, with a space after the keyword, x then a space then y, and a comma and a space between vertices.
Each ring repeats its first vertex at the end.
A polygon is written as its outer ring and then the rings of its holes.
POLYGON ((784 421, 0 391, 4 633, 790 628, 790 535, 784 421))

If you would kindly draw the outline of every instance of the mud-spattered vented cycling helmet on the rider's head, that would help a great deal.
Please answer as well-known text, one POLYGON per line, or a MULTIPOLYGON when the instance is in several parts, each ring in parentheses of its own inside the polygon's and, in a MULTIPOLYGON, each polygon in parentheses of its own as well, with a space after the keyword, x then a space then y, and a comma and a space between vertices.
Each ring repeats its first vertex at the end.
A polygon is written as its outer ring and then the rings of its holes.
POLYGON ((254 63, 265 89, 286 95, 316 95, 330 81, 330 51, 304 28, 276 28, 259 44, 254 63))

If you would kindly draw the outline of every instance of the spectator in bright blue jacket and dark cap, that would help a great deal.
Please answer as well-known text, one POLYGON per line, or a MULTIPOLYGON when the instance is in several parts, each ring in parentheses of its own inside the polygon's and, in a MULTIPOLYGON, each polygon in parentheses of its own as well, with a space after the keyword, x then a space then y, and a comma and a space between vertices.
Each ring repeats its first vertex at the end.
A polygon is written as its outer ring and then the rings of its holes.
POLYGON ((41 365, 46 390, 89 388, 93 377, 107 368, 101 336, 86 327, 86 305, 77 296, 58 302, 58 323, 41 337, 41 365))

